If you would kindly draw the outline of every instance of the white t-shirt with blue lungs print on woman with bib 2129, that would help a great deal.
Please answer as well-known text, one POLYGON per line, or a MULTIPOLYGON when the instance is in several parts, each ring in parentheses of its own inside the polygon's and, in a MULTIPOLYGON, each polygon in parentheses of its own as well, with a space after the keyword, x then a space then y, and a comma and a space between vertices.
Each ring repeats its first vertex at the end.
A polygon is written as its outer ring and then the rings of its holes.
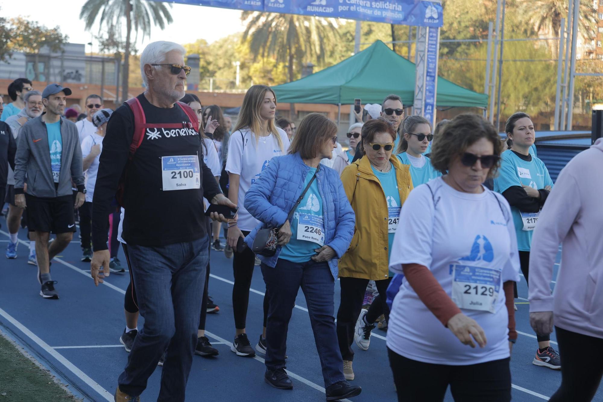
MULTIPOLYGON (((441 177, 415 187, 400 212, 390 256, 391 270, 402 273, 402 264, 428 267, 444 291, 473 297, 473 291, 490 289, 484 276, 474 275, 472 285, 453 284, 453 274, 488 272, 493 286, 488 299, 493 312, 461 308, 484 329, 485 348, 463 345, 418 298, 403 279, 394 298, 387 330, 387 346, 397 354, 418 362, 442 365, 472 365, 509 357, 508 313, 502 284, 519 281, 519 255, 511 208, 500 194, 484 188, 481 194, 461 193, 441 177), (435 205, 435 208, 434 208, 435 205), (504 211, 504 212, 503 212, 504 211), (461 267, 460 271, 458 267, 461 267), (478 270, 476 270, 478 267, 478 270), (495 284, 494 284, 495 283, 495 284), (474 288, 473 285, 476 287, 474 288), (460 289, 458 290, 460 286, 460 289), (469 287, 469 295, 467 293, 469 287)), ((466 283, 466 282, 463 282, 466 283)), ((486 290, 486 293, 488 293, 486 290)), ((488 298, 488 295, 477 296, 488 298)), ((457 299, 458 300, 458 299, 457 299)), ((482 299, 481 299, 482 300, 482 299)), ((458 301, 455 301, 459 305, 458 301)), ((459 306, 460 307, 460 306, 459 306)))

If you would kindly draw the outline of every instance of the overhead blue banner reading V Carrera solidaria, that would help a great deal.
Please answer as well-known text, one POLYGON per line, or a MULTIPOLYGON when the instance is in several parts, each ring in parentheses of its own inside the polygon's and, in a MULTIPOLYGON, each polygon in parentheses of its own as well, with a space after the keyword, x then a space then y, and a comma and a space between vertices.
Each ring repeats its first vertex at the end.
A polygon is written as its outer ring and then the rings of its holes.
POLYGON ((421 0, 173 0, 181 4, 439 28, 442 5, 421 0))

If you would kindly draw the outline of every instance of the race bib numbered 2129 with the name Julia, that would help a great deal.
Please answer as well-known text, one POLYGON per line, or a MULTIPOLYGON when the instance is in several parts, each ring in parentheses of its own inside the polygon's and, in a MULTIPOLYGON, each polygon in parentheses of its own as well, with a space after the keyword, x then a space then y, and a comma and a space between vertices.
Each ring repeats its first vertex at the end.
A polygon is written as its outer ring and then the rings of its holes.
POLYGON ((500 270, 450 264, 452 301, 459 308, 494 313, 500 291, 500 270))

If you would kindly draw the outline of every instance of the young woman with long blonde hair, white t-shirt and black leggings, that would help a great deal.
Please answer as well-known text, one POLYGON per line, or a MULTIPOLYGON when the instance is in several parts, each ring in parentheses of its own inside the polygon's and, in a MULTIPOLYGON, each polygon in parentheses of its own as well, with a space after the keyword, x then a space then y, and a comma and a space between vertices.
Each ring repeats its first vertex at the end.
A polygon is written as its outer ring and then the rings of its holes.
MULTIPOLYGON (((248 89, 239 120, 230 136, 226 171, 229 174, 229 199, 239 206, 238 215, 228 222, 227 244, 235 250, 232 261, 235 284, 232 290, 235 315, 235 342, 231 350, 238 356, 255 356, 247 338, 246 318, 249 304, 249 288, 255 255, 250 249, 236 252, 237 244, 259 223, 245 209, 245 193, 259 179, 274 156, 286 155, 289 139, 274 124, 276 96, 270 87, 254 85, 248 89)), ((264 331, 259 337, 256 350, 266 353, 266 317, 268 295, 264 296, 264 331)))

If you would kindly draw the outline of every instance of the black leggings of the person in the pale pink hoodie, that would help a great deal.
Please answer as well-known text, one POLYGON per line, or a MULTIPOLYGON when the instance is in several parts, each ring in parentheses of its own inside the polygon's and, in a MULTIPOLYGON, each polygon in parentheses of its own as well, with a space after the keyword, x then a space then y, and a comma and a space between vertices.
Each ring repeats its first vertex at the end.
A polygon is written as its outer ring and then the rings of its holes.
POLYGON ((561 386, 551 397, 551 402, 589 402, 595 397, 603 363, 589 351, 601 351, 603 339, 555 327, 561 365, 561 386))

